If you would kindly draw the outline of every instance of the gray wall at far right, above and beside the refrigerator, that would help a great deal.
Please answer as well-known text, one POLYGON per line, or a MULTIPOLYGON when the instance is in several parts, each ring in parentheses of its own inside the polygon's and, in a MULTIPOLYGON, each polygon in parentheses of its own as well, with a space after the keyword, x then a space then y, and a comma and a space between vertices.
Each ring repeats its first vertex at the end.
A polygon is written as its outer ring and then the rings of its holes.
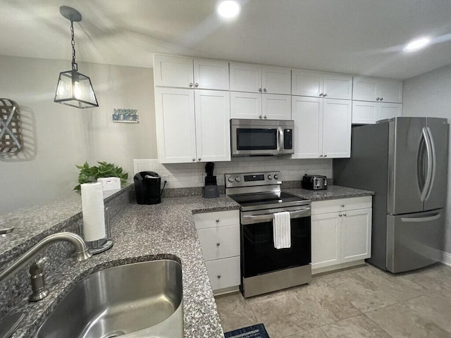
MULTIPOLYGON (((451 123, 451 65, 404 81, 404 116, 447 118, 451 123)), ((451 140, 451 138, 450 138, 451 140)), ((451 143, 448 145, 451 149, 451 143)), ((448 155, 445 251, 451 253, 451 158, 448 155)))

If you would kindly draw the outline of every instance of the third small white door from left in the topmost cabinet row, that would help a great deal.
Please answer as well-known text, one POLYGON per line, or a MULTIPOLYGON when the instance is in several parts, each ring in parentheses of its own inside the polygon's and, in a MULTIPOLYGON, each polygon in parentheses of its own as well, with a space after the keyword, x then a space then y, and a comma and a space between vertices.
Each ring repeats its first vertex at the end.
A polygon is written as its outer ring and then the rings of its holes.
POLYGON ((261 92, 261 66, 250 63, 230 63, 230 90, 261 92))

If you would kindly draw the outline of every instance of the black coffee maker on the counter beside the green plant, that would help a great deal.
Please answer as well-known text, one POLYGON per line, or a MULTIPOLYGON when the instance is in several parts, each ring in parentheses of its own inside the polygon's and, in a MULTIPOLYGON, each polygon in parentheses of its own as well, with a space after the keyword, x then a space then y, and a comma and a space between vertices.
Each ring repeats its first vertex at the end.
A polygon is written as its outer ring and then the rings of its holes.
POLYGON ((161 177, 154 171, 141 171, 135 175, 137 204, 161 203, 161 177))

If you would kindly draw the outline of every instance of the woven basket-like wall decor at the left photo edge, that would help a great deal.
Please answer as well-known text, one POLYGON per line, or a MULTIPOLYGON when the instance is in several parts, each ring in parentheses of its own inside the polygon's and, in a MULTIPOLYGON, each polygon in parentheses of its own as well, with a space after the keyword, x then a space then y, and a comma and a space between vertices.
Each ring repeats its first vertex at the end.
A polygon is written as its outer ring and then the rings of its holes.
POLYGON ((0 99, 0 154, 17 153, 22 145, 19 106, 13 100, 0 99))

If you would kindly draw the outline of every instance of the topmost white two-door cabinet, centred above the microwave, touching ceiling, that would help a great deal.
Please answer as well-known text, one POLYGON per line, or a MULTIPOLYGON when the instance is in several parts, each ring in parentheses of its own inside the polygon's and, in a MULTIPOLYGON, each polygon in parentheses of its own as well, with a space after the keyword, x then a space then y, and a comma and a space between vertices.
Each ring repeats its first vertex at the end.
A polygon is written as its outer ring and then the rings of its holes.
POLYGON ((234 92, 290 94, 290 68, 230 63, 230 90, 234 92))

